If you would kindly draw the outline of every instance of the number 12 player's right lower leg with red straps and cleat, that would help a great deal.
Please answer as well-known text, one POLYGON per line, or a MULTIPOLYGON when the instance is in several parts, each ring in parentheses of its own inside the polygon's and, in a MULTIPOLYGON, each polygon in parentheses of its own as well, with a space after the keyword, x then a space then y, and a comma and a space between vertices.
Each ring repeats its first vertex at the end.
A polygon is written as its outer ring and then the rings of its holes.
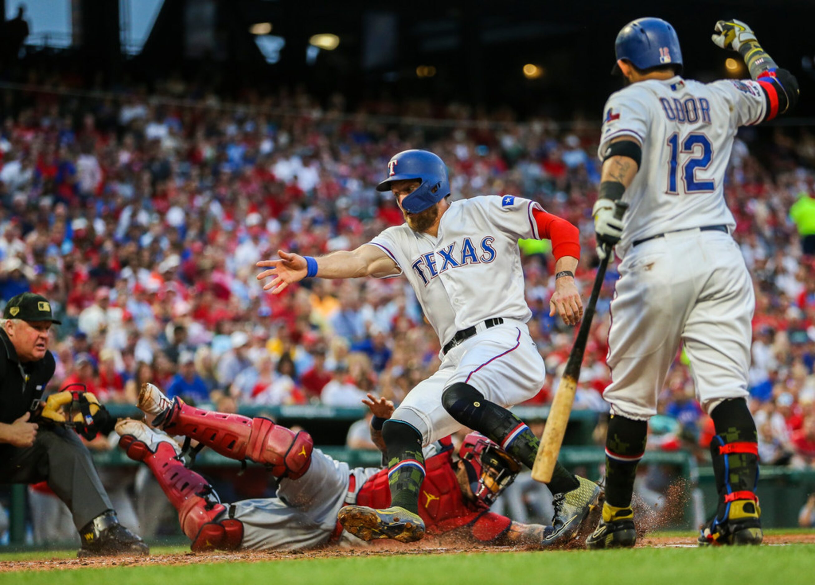
POLYGON ((716 436, 711 459, 719 503, 700 544, 759 544, 763 535, 756 497, 759 478, 756 423, 744 399, 725 400, 711 412, 716 436))

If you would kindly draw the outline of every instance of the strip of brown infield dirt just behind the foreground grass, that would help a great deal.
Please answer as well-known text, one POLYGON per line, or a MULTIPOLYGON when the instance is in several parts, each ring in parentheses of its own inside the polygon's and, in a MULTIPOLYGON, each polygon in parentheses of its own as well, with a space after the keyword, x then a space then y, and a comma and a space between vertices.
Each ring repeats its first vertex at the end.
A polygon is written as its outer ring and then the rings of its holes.
MULTIPOLYGON (((765 535, 764 544, 781 546, 786 544, 815 544, 815 534, 765 535)), ((694 547, 694 536, 645 535, 637 544, 638 548, 694 547)), ((253 563, 281 561, 299 558, 342 558, 375 557, 388 555, 455 555, 471 552, 526 552, 534 547, 490 547, 490 546, 444 546, 438 540, 423 542, 420 547, 407 548, 399 543, 381 543, 365 548, 321 548, 312 551, 290 552, 178 552, 175 554, 152 555, 149 557, 104 557, 93 559, 37 559, 36 561, 4 561, 0 563, 0 573, 14 573, 32 570, 90 569, 113 566, 136 565, 193 565, 198 563, 253 563)), ((572 550, 582 550, 575 547, 572 550)))

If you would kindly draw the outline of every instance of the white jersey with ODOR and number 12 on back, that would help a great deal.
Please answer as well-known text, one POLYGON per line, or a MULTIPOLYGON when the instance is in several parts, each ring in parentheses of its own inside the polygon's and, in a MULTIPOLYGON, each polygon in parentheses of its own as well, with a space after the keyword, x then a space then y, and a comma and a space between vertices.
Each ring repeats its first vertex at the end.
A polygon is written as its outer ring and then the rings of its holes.
POLYGON ((623 195, 622 258, 632 242, 705 225, 735 227, 723 192, 725 169, 739 126, 757 124, 766 100, 756 81, 713 83, 682 79, 639 81, 606 102, 600 147, 614 138, 642 145, 642 162, 623 195))

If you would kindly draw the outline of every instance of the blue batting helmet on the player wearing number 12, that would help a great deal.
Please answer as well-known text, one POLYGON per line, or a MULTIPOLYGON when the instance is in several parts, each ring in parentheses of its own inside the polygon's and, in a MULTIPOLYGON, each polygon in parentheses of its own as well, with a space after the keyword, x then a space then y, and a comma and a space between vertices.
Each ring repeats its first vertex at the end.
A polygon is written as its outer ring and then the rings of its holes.
MULTIPOLYGON (((615 42, 617 59, 626 59, 637 69, 676 65, 682 71, 682 51, 673 27, 659 18, 639 18, 626 24, 615 42)), ((612 73, 619 72, 615 63, 612 73)))

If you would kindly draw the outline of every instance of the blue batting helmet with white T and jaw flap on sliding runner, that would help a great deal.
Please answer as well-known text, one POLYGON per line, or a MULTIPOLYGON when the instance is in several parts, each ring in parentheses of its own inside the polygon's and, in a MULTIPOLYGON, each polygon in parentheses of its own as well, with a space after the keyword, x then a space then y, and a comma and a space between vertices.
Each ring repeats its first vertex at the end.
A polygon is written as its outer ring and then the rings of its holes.
POLYGON ((390 183, 405 179, 421 179, 421 185, 402 200, 408 213, 419 213, 450 194, 447 167, 442 159, 429 151, 402 151, 388 161, 388 178, 377 185, 377 191, 390 190, 390 183))

